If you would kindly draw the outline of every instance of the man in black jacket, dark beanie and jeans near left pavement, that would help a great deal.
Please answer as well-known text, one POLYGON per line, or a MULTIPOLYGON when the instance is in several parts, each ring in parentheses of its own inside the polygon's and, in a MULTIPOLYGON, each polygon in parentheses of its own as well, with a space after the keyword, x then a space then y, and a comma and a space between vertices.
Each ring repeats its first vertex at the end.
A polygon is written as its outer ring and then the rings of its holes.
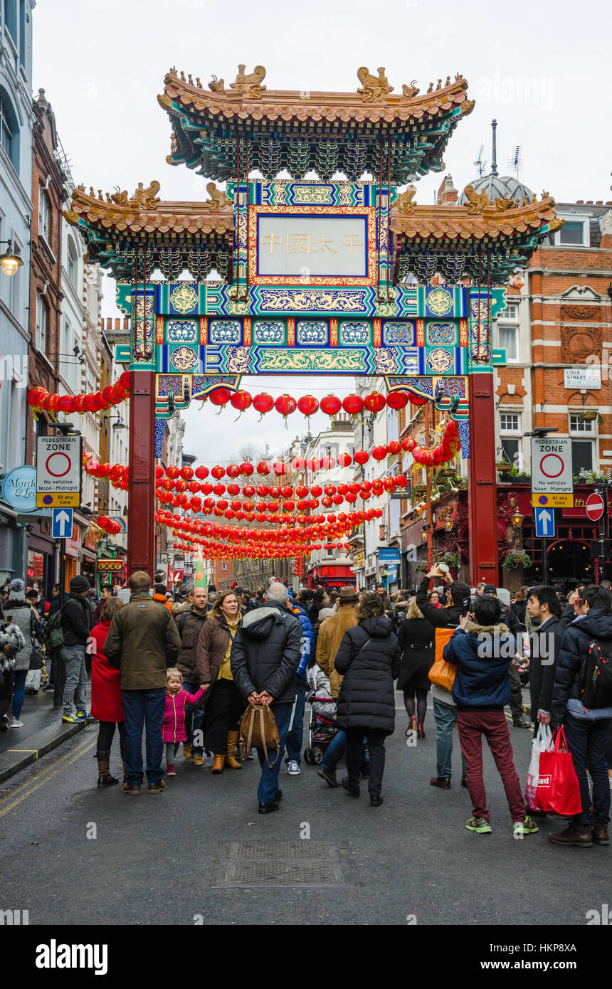
POLYGON ((89 581, 77 575, 70 581, 70 593, 61 612, 63 646, 61 658, 66 668, 62 722, 74 724, 91 720, 85 703, 87 668, 85 647, 93 625, 93 612, 87 597, 89 581), (76 710, 75 710, 76 705, 76 710))

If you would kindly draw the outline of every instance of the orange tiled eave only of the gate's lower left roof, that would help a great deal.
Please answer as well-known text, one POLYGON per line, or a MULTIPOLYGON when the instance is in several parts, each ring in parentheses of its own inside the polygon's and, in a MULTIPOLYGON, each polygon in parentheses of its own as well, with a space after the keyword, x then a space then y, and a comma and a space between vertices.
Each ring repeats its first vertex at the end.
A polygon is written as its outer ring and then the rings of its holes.
POLYGON ((130 234, 166 239, 168 234, 206 237, 233 233, 231 202, 214 183, 207 186, 212 198, 205 203, 161 201, 154 196, 158 188, 158 183, 151 183, 149 190, 138 190, 139 202, 137 193, 131 200, 127 193, 107 195, 105 202, 101 192, 96 197, 92 189, 88 195, 79 186, 72 193, 71 209, 64 211, 64 217, 81 232, 96 231, 107 239, 125 239, 130 234), (153 193, 147 196, 151 188, 153 193))

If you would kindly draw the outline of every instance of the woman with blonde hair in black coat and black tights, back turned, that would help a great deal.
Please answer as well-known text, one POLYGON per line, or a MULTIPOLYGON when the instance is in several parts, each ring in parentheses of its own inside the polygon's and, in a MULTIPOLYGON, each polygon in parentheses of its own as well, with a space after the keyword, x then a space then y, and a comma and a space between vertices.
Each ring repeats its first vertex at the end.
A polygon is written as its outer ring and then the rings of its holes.
POLYGON ((416 728, 419 739, 425 738, 427 693, 431 686, 427 674, 434 660, 434 636, 433 625, 423 617, 416 597, 413 597, 397 631, 401 664, 396 689, 403 691, 403 703, 409 719, 405 734, 409 735, 416 728))

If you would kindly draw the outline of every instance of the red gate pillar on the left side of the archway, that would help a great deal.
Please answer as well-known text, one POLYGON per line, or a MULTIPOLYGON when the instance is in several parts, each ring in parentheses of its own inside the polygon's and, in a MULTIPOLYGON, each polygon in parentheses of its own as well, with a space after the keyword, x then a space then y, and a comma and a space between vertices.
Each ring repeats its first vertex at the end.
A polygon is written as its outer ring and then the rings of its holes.
POLYGON ((155 372, 130 374, 128 577, 155 570, 155 372))

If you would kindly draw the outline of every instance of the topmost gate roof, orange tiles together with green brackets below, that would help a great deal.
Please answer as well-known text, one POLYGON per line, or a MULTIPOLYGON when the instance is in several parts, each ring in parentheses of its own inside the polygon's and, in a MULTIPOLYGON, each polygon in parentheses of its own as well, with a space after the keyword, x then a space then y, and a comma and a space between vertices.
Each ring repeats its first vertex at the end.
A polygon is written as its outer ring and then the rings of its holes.
POLYGON ((208 88, 172 68, 164 79, 160 106, 172 122, 170 164, 185 163, 218 181, 235 179, 237 152, 244 168, 258 168, 272 179, 287 169, 293 178, 313 170, 324 181, 336 171, 357 181, 366 171, 403 185, 429 170, 444 168, 442 154, 462 117, 471 113, 468 83, 457 74, 426 92, 410 83, 394 92, 385 68, 373 75, 357 70, 360 86, 352 93, 268 89, 262 65, 251 73, 238 66, 225 86, 213 76, 208 88))

